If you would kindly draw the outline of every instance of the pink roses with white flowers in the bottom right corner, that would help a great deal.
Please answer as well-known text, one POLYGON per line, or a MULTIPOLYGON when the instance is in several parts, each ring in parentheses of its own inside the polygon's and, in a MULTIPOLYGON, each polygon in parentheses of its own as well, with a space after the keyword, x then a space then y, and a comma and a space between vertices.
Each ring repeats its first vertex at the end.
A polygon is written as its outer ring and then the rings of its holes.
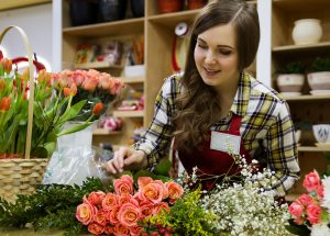
POLYGON ((320 178, 315 170, 305 176, 301 194, 289 205, 293 233, 312 236, 330 235, 330 177, 320 178))

